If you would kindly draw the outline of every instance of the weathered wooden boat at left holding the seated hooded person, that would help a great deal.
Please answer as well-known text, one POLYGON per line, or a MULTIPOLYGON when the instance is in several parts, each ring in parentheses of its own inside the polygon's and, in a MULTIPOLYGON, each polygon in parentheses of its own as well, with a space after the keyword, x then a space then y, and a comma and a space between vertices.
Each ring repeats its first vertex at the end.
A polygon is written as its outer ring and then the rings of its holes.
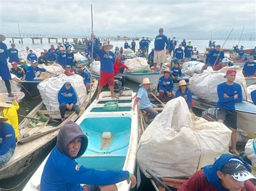
MULTIPOLYGON (((91 96, 95 94, 98 81, 92 84, 91 96)), ((90 103, 90 96, 87 95, 84 103, 80 105, 81 112, 90 103)), ((43 102, 39 103, 26 118, 19 124, 19 138, 14 155, 10 161, 0 168, 0 180, 11 178, 21 174, 30 164, 35 161, 45 148, 55 142, 59 129, 68 121, 75 121, 79 115, 75 111, 67 111, 70 116, 62 123, 51 121, 51 114, 59 114, 59 111, 45 110, 43 102), (39 116, 39 117, 38 117, 39 116), (31 119, 33 118, 33 119, 31 119), (37 118, 37 120, 35 120, 37 118), (45 120, 42 120, 45 118, 45 120), (40 126, 35 127, 35 121, 44 121, 40 126)))

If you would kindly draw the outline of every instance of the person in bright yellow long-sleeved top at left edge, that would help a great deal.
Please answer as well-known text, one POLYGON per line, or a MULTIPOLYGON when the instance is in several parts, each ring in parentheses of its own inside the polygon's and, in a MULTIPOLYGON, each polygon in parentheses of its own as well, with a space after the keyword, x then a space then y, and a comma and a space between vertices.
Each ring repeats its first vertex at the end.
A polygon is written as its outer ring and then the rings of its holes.
MULTIPOLYGON (((6 103, 6 96, 0 95, 0 116, 8 118, 6 123, 12 125, 15 131, 15 137, 19 136, 19 119, 17 111, 19 110, 19 101, 14 97, 11 103, 6 103)), ((1 129, 1 126, 0 126, 1 129)))

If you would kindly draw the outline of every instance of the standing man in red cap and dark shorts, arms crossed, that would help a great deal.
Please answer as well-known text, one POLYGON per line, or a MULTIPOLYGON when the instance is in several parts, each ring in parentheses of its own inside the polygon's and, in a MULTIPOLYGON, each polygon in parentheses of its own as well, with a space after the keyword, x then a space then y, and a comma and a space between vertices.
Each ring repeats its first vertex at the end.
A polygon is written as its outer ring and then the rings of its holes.
POLYGON ((225 77, 227 81, 220 83, 217 87, 219 101, 217 107, 217 121, 224 123, 232 131, 231 153, 239 155, 237 151, 237 112, 235 111, 235 103, 242 102, 242 89, 240 84, 235 83, 235 69, 228 69, 225 77))

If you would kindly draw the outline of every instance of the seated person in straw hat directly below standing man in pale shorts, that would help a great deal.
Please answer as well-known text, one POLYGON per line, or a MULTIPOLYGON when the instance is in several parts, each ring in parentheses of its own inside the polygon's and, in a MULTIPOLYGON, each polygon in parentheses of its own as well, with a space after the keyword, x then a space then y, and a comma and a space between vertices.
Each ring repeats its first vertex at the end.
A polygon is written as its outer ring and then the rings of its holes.
POLYGON ((172 77, 170 77, 170 74, 172 73, 172 71, 170 71, 169 68, 166 68, 161 72, 164 73, 164 75, 160 77, 158 82, 159 100, 166 102, 171 100, 171 98, 174 96, 174 94, 172 93, 173 80, 172 80, 172 77))

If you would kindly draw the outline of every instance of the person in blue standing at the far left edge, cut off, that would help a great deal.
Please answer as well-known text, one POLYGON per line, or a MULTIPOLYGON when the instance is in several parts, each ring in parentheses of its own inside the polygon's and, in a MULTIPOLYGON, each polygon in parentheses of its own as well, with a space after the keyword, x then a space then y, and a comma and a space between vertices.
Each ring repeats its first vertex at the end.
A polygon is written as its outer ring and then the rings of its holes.
POLYGON ((14 94, 11 93, 11 83, 9 81, 11 80, 11 74, 7 64, 9 53, 7 46, 3 43, 4 40, 5 37, 0 34, 0 77, 2 77, 2 80, 5 83, 5 87, 8 91, 8 96, 14 97, 14 94))

